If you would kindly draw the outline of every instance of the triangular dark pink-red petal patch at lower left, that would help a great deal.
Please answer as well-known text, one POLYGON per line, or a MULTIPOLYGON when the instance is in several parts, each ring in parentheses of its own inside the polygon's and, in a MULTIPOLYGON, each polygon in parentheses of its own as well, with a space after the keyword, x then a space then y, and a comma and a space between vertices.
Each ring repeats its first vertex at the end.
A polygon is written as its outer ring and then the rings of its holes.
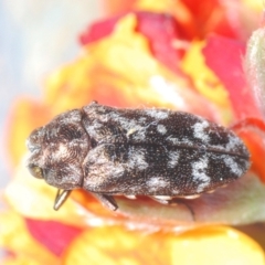
POLYGON ((65 247, 82 232, 82 229, 55 221, 25 219, 31 235, 60 256, 65 247))

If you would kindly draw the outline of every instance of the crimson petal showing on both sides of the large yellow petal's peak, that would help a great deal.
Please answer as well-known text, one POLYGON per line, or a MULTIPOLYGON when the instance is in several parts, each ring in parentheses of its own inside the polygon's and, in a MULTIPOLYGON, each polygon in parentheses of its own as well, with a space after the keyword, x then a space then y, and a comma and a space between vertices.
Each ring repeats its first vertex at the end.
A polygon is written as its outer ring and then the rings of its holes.
MULTIPOLYGON (((165 13, 135 12, 137 18, 136 31, 145 35, 153 56, 172 71, 179 73, 179 50, 173 42, 179 39, 180 29, 174 18, 165 13)), ((114 17, 93 24, 81 36, 83 45, 100 40, 110 34, 124 15, 114 17)))

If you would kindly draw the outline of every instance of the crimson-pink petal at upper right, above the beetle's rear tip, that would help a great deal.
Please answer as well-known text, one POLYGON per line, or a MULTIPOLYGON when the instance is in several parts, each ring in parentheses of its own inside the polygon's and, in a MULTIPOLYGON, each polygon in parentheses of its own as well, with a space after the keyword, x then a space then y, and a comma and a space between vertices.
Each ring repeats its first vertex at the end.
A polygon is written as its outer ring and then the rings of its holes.
POLYGON ((208 66, 225 85, 237 119, 261 117, 244 77, 242 56, 245 54, 245 44, 213 35, 208 39, 203 54, 208 66))

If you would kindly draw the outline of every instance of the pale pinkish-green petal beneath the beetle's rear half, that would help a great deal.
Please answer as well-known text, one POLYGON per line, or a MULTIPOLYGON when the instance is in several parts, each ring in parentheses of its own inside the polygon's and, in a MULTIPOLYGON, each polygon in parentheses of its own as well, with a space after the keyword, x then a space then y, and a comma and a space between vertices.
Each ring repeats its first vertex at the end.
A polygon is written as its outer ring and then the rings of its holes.
POLYGON ((265 184, 252 172, 213 193, 203 193, 198 199, 177 199, 177 205, 123 198, 116 200, 119 212, 141 225, 160 224, 187 230, 200 224, 248 224, 265 221, 265 184))

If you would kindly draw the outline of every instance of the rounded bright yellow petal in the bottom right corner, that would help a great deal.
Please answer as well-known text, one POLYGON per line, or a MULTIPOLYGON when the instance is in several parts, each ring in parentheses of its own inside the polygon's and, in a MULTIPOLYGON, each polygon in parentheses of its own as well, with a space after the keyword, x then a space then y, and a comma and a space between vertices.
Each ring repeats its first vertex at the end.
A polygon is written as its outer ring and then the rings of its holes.
POLYGON ((245 234, 224 226, 203 227, 172 243, 172 264, 262 265, 262 247, 245 234), (180 261, 180 262, 179 262, 180 261))

